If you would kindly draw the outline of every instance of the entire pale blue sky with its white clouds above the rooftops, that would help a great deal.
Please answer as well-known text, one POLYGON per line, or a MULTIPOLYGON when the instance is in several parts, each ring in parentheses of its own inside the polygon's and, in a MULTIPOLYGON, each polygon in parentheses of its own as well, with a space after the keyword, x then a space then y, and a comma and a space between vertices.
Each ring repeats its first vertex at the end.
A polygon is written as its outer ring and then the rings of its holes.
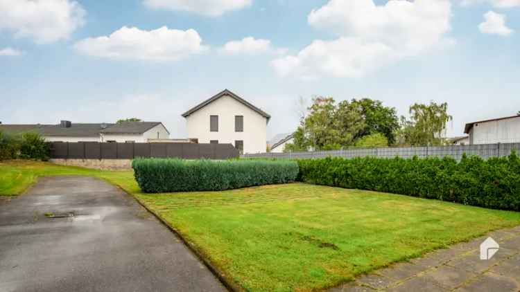
POLYGON ((271 114, 268 138, 299 96, 448 102, 450 136, 520 111, 519 0, 0 0, 0 19, 3 123, 136 116, 178 138, 225 88, 271 114))

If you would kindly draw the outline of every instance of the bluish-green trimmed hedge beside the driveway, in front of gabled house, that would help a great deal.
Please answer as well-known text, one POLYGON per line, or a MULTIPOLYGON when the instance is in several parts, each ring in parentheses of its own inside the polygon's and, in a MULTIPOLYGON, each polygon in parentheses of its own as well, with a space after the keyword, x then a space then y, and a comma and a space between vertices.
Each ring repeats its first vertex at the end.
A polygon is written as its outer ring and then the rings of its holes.
POLYGON ((295 181, 295 161, 137 158, 132 162, 143 192, 229 190, 295 181))

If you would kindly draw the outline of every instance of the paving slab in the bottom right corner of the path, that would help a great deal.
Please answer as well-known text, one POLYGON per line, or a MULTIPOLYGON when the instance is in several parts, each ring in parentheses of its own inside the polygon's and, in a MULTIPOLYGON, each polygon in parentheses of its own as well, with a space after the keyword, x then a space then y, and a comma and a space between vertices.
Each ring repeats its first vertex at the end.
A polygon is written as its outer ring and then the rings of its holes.
POLYGON ((496 275, 494 273, 485 273, 479 275, 475 280, 463 285, 456 291, 463 292, 488 292, 488 291, 519 291, 520 284, 509 277, 496 275))

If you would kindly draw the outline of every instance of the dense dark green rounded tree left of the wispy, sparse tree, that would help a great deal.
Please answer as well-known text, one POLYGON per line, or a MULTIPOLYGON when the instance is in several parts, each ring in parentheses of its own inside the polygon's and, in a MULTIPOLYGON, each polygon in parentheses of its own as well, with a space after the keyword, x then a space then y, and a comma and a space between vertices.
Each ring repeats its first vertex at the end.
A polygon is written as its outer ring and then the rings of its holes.
POLYGON ((399 119, 395 108, 385 107, 381 100, 371 100, 370 98, 353 99, 350 107, 361 111, 361 116, 365 121, 365 127, 355 137, 356 139, 381 133, 386 136, 390 145, 395 143, 395 131, 399 129, 399 119))

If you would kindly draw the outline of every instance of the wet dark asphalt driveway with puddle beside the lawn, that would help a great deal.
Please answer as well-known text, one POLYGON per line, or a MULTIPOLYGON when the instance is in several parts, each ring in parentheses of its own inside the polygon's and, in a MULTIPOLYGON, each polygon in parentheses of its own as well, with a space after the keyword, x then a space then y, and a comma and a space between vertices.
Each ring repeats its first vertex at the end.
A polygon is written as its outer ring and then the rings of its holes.
POLYGON ((0 291, 225 288, 130 195, 99 179, 55 176, 0 203, 0 291))

